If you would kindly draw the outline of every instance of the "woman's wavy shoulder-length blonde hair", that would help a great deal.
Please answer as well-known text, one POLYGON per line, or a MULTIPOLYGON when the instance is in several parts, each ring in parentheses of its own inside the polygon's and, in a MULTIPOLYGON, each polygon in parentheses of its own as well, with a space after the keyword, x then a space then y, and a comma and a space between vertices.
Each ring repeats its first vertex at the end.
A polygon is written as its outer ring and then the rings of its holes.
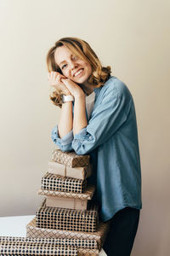
MULTIPOLYGON (((111 77, 111 67, 102 67, 98 56, 94 53, 94 50, 89 44, 80 38, 60 38, 55 42, 54 46, 48 50, 46 58, 48 73, 56 71, 62 74, 61 69, 54 60, 54 52, 60 46, 65 46, 71 50, 71 52, 77 55, 83 61, 87 61, 92 67, 92 74, 88 79, 89 84, 95 84, 96 88, 103 86, 105 82, 111 77)), ((52 95, 49 96, 54 105, 61 108, 61 94, 57 90, 54 90, 52 95)))

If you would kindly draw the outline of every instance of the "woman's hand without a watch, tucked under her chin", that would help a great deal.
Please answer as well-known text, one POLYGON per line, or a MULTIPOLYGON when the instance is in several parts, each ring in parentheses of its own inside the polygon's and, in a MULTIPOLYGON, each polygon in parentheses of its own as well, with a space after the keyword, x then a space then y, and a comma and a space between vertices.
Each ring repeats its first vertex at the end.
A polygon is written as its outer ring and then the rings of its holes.
POLYGON ((78 84, 73 82, 71 79, 62 78, 61 81, 65 84, 67 89, 71 92, 71 95, 74 96, 75 98, 85 96, 82 88, 78 84))

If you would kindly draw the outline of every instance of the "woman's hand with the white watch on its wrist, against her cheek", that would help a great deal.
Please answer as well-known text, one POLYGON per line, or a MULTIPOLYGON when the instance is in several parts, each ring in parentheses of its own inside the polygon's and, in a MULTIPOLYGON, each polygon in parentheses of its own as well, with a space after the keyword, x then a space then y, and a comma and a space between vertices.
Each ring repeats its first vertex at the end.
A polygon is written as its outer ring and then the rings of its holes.
POLYGON ((70 90, 68 90, 67 86, 62 83, 61 79, 65 79, 65 76, 59 72, 52 71, 51 73, 48 73, 48 81, 50 85, 57 90, 57 93, 71 95, 70 90))

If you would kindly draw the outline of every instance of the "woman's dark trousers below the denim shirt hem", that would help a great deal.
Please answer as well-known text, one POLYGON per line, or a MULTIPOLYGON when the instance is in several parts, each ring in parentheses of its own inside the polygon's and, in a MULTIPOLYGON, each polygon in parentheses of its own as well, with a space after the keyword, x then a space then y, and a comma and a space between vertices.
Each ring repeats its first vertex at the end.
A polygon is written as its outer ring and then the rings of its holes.
POLYGON ((130 256, 139 225, 140 210, 125 207, 111 218, 111 226, 104 243, 108 256, 130 256))

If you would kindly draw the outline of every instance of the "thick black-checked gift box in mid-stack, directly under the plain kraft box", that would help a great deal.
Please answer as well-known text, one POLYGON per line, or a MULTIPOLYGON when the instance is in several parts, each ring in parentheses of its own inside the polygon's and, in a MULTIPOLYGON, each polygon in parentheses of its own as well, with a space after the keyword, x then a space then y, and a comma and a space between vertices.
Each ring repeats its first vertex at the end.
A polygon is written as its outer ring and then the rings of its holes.
POLYGON ((94 232, 99 223, 98 207, 92 204, 89 210, 79 211, 58 207, 46 207, 46 200, 36 212, 39 228, 94 232))

